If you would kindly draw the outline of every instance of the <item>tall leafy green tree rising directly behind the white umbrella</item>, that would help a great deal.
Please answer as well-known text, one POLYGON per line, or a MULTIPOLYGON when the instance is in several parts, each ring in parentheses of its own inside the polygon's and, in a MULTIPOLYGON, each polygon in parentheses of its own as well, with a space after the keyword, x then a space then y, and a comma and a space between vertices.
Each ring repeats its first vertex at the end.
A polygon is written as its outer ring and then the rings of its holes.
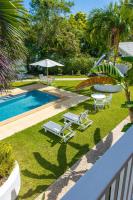
POLYGON ((36 52, 35 57, 37 59, 58 53, 59 47, 64 44, 66 52, 69 49, 69 44, 71 45, 70 49, 72 48, 73 42, 71 40, 71 43, 69 40, 72 37, 74 41, 75 38, 70 33, 70 28, 65 18, 72 5, 72 1, 66 0, 32 0, 31 29, 29 30, 30 37, 28 41, 34 39, 34 46, 32 45, 32 47, 35 47, 35 49, 32 50, 36 52), (64 41, 68 40, 68 44, 62 42, 63 39, 61 37, 64 38, 64 41))

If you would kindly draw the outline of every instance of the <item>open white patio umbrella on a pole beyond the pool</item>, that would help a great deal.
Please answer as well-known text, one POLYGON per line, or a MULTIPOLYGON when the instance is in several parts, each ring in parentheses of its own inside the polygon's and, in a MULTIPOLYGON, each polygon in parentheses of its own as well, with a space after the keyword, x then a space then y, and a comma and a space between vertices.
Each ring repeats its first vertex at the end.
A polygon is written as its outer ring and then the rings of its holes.
POLYGON ((50 59, 45 59, 45 60, 41 60, 41 61, 38 61, 38 62, 35 62, 35 63, 32 63, 30 64, 32 66, 40 66, 40 67, 46 67, 47 68, 47 78, 48 78, 48 68, 51 68, 51 67, 55 67, 55 66, 64 66, 58 62, 55 62, 53 60, 50 60, 50 59))

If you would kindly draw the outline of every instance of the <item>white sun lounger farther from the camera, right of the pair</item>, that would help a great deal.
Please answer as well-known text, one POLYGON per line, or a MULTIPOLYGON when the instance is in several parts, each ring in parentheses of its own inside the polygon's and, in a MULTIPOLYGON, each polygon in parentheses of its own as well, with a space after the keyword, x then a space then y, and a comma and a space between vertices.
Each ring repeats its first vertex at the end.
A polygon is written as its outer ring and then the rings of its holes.
POLYGON ((64 118, 65 123, 71 122, 73 124, 77 124, 83 130, 93 123, 93 121, 88 118, 88 110, 81 113, 80 115, 76 115, 76 114, 68 112, 63 115, 63 118, 64 118))

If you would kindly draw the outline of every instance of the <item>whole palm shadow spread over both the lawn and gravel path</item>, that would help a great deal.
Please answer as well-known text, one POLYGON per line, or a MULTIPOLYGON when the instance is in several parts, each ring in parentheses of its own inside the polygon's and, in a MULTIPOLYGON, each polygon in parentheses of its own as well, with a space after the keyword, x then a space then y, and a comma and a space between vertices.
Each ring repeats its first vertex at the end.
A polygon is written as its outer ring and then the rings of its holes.
MULTIPOLYGON (((49 134, 50 137, 55 137, 56 142, 57 137, 53 136, 52 134, 49 134)), ((30 170, 23 170, 22 173, 24 176, 27 176, 31 179, 44 179, 48 180, 50 179, 52 182, 56 179, 58 179, 59 176, 64 174, 66 170, 72 166, 72 172, 68 176, 61 176, 59 181, 55 182, 55 187, 50 186, 49 187, 49 199, 56 199, 58 194, 61 192, 62 188, 65 187, 70 180, 76 182, 87 170, 80 170, 76 171, 76 168, 81 162, 81 157, 85 155, 89 150, 91 151, 91 154, 87 153, 86 159, 88 163, 94 164, 103 154, 104 152, 111 146, 112 144, 112 134, 109 134, 107 138, 103 141, 101 137, 100 128, 96 128, 94 131, 94 142, 96 144, 96 148, 90 150, 88 144, 80 145, 78 143, 75 143, 73 141, 69 141, 67 144, 61 143, 58 155, 57 155, 57 163, 53 164, 49 160, 45 159, 44 156, 42 156, 39 152, 34 152, 33 156, 36 160, 36 162, 43 168, 44 170, 48 170, 49 174, 37 174, 30 170), (71 146, 72 148, 77 150, 77 153, 73 156, 73 158, 70 161, 67 161, 67 147, 71 146), (89 155, 89 156, 88 156, 89 155), (74 164, 75 163, 75 164, 74 164), (56 187, 57 185, 57 187, 56 187)), ((71 170, 70 170, 71 171, 71 170)), ((41 193, 42 191, 46 190, 48 185, 39 185, 36 187, 35 190, 28 190, 21 198, 26 199, 29 197, 32 197, 35 193, 41 193)))

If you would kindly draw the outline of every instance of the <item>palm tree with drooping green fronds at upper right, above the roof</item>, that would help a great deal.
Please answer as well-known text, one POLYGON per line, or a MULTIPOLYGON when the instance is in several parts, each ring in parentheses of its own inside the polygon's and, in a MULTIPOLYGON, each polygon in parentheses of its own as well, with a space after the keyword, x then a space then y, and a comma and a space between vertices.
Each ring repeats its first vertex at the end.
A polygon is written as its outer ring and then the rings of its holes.
POLYGON ((121 5, 110 4, 107 9, 93 10, 88 18, 90 41, 104 44, 114 52, 114 63, 118 55, 119 42, 129 36, 132 25, 131 7, 122 1, 121 5), (127 14, 128 13, 128 14, 127 14))

